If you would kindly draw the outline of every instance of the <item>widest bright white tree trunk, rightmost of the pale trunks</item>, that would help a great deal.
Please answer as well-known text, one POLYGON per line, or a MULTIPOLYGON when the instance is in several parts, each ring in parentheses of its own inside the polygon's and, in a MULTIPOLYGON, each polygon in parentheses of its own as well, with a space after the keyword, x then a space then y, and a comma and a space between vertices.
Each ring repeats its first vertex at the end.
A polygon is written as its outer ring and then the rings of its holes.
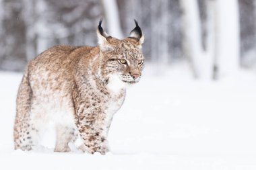
POLYGON ((216 67, 219 76, 238 71, 240 56, 239 15, 237 0, 216 0, 216 67))

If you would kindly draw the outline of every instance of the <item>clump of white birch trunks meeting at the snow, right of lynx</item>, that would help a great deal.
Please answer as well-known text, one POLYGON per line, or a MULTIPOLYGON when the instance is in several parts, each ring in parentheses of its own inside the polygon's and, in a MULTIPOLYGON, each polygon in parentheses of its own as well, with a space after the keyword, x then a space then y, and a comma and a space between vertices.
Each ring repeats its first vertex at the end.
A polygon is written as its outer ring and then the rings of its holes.
POLYGON ((239 17, 237 0, 207 0, 207 52, 201 48, 196 0, 181 0, 184 9, 184 52, 195 77, 218 79, 239 67, 239 17))

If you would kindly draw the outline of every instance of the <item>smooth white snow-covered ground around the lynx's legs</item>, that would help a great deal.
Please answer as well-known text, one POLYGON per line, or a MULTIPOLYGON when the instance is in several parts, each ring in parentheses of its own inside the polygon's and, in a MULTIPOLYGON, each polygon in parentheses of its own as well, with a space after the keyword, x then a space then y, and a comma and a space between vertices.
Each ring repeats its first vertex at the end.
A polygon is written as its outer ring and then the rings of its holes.
POLYGON ((13 151, 22 74, 0 72, 0 169, 256 169, 256 73, 202 81, 186 69, 148 65, 115 115, 104 156, 13 151))

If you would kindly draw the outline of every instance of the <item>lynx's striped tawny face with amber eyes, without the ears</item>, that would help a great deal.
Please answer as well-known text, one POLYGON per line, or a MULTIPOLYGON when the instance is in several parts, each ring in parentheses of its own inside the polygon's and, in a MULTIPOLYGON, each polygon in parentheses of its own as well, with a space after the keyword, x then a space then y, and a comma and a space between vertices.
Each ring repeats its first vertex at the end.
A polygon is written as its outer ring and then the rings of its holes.
POLYGON ((125 83, 137 83, 144 67, 141 50, 129 40, 119 40, 113 50, 102 51, 105 75, 117 75, 125 83))

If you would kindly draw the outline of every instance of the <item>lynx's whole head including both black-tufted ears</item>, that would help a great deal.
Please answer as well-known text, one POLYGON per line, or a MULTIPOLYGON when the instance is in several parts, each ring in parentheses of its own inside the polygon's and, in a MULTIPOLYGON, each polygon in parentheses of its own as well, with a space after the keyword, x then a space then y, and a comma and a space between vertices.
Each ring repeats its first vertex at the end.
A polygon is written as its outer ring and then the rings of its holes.
POLYGON ((137 83, 144 67, 141 44, 144 37, 135 21, 135 28, 128 38, 119 40, 108 36, 102 29, 102 20, 98 25, 97 35, 100 46, 100 75, 102 79, 118 79, 125 83, 137 83))

